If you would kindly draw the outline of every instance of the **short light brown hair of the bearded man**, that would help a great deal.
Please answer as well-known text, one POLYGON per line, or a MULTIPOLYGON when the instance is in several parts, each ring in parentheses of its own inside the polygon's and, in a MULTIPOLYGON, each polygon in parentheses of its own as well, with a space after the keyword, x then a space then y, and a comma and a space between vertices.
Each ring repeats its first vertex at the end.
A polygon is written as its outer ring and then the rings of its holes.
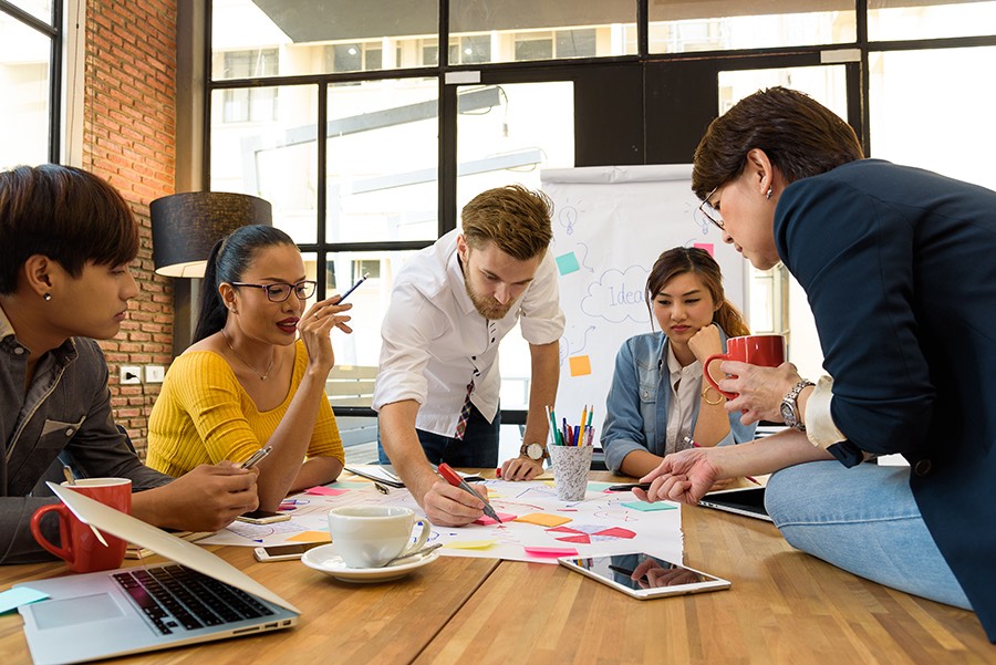
POLYGON ((520 261, 550 247, 553 204, 542 191, 508 185, 481 191, 460 212, 464 238, 471 248, 495 245, 520 261))

